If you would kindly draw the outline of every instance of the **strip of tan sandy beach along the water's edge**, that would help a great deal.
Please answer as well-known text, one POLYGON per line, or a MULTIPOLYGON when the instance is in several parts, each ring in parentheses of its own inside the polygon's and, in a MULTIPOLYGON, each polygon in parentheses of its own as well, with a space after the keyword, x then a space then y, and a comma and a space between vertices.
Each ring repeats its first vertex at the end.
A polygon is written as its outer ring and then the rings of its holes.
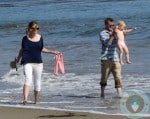
MULTIPOLYGON (((150 117, 144 117, 141 119, 149 118, 150 117)), ((1 106, 0 119, 128 119, 128 117, 119 115, 94 114, 87 112, 1 106)))

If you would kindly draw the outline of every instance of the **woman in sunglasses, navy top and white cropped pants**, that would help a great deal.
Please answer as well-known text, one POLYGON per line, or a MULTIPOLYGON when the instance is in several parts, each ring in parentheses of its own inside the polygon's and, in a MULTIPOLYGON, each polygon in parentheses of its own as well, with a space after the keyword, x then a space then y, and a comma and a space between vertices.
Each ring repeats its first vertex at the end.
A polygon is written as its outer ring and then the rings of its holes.
POLYGON ((43 61, 41 52, 49 54, 57 54, 58 51, 52 51, 43 47, 43 38, 38 33, 39 26, 36 21, 31 21, 28 24, 27 35, 22 39, 22 46, 19 51, 16 63, 21 59, 25 75, 25 83, 23 86, 23 104, 28 101, 30 86, 34 84, 34 101, 37 104, 41 90, 41 75, 43 70, 43 61))

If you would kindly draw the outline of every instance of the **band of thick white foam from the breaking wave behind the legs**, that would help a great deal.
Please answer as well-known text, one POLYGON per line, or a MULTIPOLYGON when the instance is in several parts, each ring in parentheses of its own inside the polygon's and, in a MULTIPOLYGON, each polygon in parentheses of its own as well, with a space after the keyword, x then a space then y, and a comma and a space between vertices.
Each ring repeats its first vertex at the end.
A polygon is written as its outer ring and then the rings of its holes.
MULTIPOLYGON (((22 67, 18 69, 18 71, 10 70, 4 76, 2 76, 1 82, 10 83, 10 85, 23 85, 24 74, 22 71, 22 67)), ((114 87, 113 77, 112 75, 108 81, 108 89, 114 87)), ((76 75, 75 73, 66 73, 65 75, 54 76, 53 73, 43 72, 42 74, 42 85, 43 90, 46 87, 49 87, 51 93, 57 92, 61 87, 61 91, 68 90, 67 93, 73 94, 72 90, 76 89, 74 92, 78 90, 82 90, 80 93, 92 93, 97 92, 99 90, 99 81, 100 81, 100 74, 85 74, 85 75, 76 75), (55 88, 53 88, 55 87, 55 88), (94 89, 94 91, 93 91, 94 89), (89 92, 89 91, 90 92, 89 92)), ((142 88, 147 90, 150 87, 150 80, 149 75, 123 75, 122 81, 125 89, 132 89, 132 88, 142 88)), ((9 87, 8 87, 9 88, 9 87)), ((47 89, 46 89, 47 90, 47 89)))

